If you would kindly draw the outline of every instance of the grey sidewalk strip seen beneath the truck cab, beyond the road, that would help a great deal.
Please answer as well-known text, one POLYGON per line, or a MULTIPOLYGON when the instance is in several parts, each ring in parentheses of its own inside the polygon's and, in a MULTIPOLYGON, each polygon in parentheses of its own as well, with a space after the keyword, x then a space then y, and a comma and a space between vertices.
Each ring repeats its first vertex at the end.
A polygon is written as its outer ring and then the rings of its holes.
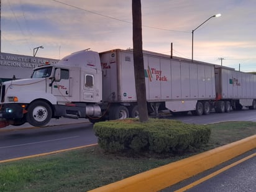
MULTIPOLYGON (((60 126, 60 125, 67 125, 67 124, 79 124, 79 123, 87 123, 89 122, 88 119, 80 118, 80 119, 68 119, 68 118, 60 118, 60 119, 51 119, 50 122, 46 126, 60 126)), ((25 123, 22 126, 7 126, 0 129, 0 132, 2 130, 15 130, 15 129, 29 129, 34 126, 31 126, 29 123, 25 123)))

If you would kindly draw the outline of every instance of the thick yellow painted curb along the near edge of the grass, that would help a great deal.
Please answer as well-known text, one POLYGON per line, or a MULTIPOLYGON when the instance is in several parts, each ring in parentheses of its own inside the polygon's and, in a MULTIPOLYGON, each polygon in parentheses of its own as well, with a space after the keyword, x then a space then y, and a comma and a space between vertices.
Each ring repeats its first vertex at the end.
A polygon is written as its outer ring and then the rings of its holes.
POLYGON ((89 192, 159 191, 255 148, 256 135, 253 135, 89 192))

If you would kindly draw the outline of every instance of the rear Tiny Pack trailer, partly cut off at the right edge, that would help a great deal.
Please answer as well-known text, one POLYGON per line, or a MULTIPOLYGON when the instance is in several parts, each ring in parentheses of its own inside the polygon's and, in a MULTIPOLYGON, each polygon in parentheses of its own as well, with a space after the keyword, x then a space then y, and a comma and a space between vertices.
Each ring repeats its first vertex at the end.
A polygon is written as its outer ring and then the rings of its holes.
POLYGON ((215 66, 216 111, 256 109, 256 75, 235 71, 233 68, 215 66))

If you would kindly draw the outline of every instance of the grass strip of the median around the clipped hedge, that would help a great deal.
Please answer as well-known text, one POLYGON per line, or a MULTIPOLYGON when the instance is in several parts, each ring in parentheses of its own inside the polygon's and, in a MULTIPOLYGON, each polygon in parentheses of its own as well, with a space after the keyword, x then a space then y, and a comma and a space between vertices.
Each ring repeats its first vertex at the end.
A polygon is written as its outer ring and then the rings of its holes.
POLYGON ((255 122, 209 125, 208 144, 181 156, 104 153, 98 146, 0 165, 0 191, 88 191, 256 134, 255 122))

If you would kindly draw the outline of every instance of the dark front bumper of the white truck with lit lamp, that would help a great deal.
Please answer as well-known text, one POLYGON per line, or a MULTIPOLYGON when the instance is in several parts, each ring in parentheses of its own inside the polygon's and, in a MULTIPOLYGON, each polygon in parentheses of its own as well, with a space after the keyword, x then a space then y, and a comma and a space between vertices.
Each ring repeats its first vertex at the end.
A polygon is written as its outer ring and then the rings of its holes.
POLYGON ((22 119, 24 108, 18 103, 7 103, 0 105, 0 119, 22 119))

